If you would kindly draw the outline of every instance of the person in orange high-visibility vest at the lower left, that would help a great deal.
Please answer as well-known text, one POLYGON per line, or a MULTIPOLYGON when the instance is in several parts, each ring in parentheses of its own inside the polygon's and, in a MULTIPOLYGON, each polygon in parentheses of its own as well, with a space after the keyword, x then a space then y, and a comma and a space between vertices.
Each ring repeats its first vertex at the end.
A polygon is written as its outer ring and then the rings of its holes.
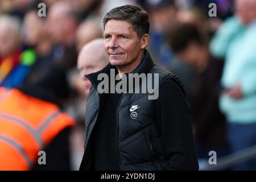
POLYGON ((63 90, 56 82, 65 73, 50 69, 36 84, 0 88, 0 170, 71 168, 69 132, 75 122, 61 111, 63 90), (38 163, 39 151, 46 152, 46 164, 38 163))

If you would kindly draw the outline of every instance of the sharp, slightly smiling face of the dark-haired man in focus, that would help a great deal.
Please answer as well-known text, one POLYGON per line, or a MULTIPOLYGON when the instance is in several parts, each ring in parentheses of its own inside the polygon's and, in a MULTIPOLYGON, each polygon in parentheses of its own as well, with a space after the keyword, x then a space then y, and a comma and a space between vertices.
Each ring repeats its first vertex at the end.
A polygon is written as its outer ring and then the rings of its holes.
POLYGON ((110 64, 120 68, 138 61, 142 49, 147 46, 143 37, 138 38, 133 25, 124 20, 109 20, 105 25, 104 39, 110 64))

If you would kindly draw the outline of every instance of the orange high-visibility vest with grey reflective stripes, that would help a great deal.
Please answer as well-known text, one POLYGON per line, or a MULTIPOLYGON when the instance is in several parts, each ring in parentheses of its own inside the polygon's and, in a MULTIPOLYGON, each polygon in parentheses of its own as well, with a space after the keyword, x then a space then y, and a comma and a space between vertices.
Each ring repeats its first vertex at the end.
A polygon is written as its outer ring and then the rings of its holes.
POLYGON ((73 125, 57 105, 18 89, 0 88, 0 170, 31 169, 38 152, 73 125))

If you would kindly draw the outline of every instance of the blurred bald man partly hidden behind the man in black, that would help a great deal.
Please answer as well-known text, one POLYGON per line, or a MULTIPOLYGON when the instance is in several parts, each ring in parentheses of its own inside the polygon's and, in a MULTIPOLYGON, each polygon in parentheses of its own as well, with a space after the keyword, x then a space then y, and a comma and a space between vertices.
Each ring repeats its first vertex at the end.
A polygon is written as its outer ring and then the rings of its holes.
POLYGON ((73 79, 73 87, 78 90, 80 96, 71 103, 68 113, 74 115, 77 123, 72 131, 72 158, 73 169, 79 169, 84 152, 84 118, 86 97, 90 89, 90 81, 84 76, 89 73, 97 72, 109 63, 105 54, 104 39, 95 39, 86 44, 80 51, 77 60, 77 69, 79 69, 80 77, 73 79))

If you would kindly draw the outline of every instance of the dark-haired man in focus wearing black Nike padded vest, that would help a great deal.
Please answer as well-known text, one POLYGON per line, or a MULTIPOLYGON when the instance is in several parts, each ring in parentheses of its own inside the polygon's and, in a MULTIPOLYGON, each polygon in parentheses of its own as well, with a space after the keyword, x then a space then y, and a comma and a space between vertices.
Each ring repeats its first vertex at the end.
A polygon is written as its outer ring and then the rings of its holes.
POLYGON ((137 6, 116 7, 105 15, 105 52, 110 64, 86 75, 92 86, 86 105, 85 152, 80 170, 198 169, 183 86, 174 74, 153 63, 145 49, 149 27, 147 12, 137 6), (111 80, 113 71, 121 81, 111 80), (111 92, 112 84, 115 88, 119 82, 123 87, 129 85, 126 81, 133 79, 131 73, 147 76, 132 89, 129 87, 129 92, 111 92), (102 74, 110 77, 110 85, 104 86, 107 92, 103 93, 99 79, 102 74), (158 79, 152 80, 150 74, 158 79), (152 93, 141 90, 152 81, 159 94, 150 99, 152 93), (136 88, 140 92, 130 92, 136 88))

